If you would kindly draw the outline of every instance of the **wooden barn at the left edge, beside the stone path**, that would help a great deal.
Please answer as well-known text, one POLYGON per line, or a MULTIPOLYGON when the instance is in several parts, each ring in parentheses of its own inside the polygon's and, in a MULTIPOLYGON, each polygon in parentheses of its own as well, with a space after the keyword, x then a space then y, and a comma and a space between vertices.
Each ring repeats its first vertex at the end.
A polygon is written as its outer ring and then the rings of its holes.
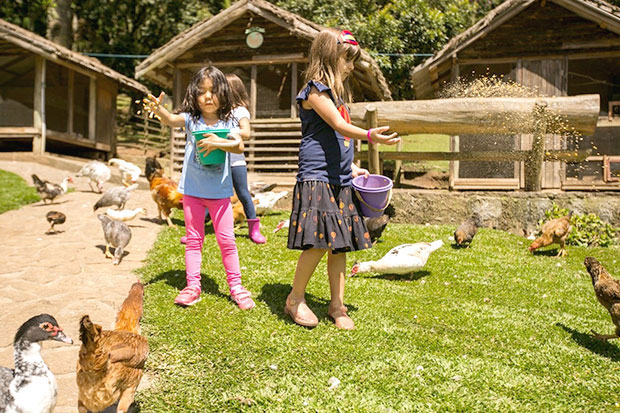
POLYGON ((110 157, 119 87, 148 91, 96 59, 0 20, 0 150, 110 157))

